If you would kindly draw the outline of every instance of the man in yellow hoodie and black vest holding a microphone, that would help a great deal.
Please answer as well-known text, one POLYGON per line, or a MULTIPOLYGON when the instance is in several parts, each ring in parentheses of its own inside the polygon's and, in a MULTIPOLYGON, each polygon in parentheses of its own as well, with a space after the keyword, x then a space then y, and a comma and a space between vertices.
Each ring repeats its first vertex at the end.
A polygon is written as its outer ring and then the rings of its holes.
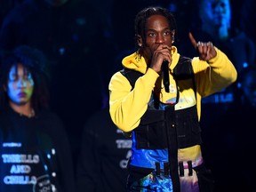
POLYGON ((236 81, 236 68, 211 42, 188 34, 198 57, 173 46, 176 21, 167 9, 146 7, 135 18, 138 51, 109 82, 112 121, 132 137, 128 191, 207 191, 214 180, 201 151, 201 98, 236 81))

